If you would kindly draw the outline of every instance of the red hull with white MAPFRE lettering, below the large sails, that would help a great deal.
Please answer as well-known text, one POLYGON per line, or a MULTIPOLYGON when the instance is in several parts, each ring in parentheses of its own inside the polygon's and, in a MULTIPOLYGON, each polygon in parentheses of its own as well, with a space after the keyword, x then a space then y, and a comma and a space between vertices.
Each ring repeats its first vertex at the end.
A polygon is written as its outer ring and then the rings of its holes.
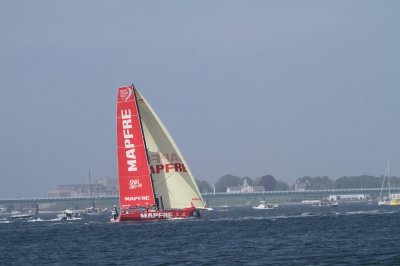
POLYGON ((176 210, 127 210, 121 213, 117 220, 111 219, 112 222, 124 221, 154 221, 154 220, 168 220, 168 219, 190 219, 200 218, 199 211, 195 208, 185 208, 176 210))

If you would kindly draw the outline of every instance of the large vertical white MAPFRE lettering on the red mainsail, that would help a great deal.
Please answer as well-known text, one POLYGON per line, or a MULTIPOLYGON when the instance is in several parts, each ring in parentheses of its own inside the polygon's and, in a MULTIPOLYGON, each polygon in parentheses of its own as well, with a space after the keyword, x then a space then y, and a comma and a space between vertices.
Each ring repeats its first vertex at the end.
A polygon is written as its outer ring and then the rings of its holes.
POLYGON ((132 114, 130 109, 121 110, 121 122, 122 122, 122 135, 124 138, 124 147, 126 149, 126 162, 128 164, 129 172, 136 172, 136 154, 135 144, 133 143, 132 129, 132 114))

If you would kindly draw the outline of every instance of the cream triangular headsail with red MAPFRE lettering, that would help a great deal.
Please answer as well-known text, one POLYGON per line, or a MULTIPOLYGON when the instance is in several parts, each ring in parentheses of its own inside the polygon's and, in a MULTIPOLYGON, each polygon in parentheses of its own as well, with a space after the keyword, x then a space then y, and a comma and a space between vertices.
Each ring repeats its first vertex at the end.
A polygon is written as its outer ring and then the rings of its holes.
POLYGON ((156 196, 165 209, 204 208, 196 181, 157 114, 137 92, 156 196))

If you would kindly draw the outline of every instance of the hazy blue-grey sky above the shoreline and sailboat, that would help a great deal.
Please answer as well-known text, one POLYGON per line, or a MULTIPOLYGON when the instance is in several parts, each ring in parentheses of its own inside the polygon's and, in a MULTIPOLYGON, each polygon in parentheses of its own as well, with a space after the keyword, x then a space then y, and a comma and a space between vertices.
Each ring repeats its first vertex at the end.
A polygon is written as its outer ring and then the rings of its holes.
POLYGON ((134 83, 196 178, 400 175, 400 1, 1 1, 0 198, 116 177, 134 83))

